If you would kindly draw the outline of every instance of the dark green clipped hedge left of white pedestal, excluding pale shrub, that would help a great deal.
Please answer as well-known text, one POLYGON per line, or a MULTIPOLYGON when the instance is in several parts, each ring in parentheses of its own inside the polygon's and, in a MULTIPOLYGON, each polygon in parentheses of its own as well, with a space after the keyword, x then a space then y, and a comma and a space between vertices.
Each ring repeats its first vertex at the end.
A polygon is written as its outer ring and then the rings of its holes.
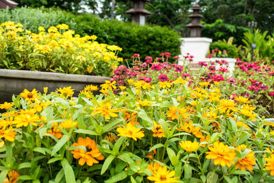
POLYGON ((179 55, 180 36, 169 27, 152 25, 140 26, 136 23, 120 21, 101 21, 90 14, 76 17, 80 34, 95 34, 99 42, 122 47, 122 58, 130 58, 134 53, 141 56, 157 57, 160 53, 170 52, 179 55))

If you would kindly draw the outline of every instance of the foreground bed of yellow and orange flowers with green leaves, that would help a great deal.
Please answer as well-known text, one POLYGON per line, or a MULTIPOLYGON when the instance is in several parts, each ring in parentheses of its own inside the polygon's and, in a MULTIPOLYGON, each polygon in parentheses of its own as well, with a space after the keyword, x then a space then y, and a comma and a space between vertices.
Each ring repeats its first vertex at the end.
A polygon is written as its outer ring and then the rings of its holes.
POLYGON ((274 181, 273 123, 249 99, 179 76, 126 82, 2 103, 0 182, 274 181))

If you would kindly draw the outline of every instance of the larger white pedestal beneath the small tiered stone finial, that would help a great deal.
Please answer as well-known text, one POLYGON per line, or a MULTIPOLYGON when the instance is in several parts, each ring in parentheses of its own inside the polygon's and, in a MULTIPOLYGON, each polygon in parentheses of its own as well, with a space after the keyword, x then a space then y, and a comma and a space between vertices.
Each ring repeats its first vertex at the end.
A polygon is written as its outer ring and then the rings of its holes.
POLYGON ((193 63, 205 60, 208 49, 210 49, 210 42, 212 42, 211 38, 181 38, 181 40, 183 40, 183 43, 181 45, 182 55, 179 56, 179 64, 182 64, 186 53, 194 56, 193 63))

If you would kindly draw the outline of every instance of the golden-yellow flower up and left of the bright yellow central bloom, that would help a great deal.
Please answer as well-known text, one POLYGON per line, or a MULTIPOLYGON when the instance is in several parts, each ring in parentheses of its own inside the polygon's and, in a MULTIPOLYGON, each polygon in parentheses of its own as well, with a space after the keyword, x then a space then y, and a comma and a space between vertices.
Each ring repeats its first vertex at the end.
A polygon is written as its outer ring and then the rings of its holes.
POLYGON ((94 110, 90 115, 100 114, 100 116, 104 117, 105 119, 110 119, 111 117, 118 117, 116 112, 120 112, 120 109, 112 109, 110 108, 111 103, 108 101, 107 103, 99 103, 99 106, 97 108, 90 108, 91 110, 94 110))

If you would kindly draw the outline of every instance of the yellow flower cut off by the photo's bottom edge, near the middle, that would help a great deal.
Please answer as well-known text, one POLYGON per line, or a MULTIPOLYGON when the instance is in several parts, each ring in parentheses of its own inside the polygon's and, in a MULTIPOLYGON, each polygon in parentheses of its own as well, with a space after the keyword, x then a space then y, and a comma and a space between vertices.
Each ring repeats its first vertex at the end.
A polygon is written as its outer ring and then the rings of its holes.
POLYGON ((155 183, 178 182, 178 178, 173 178, 174 175, 175 171, 169 171, 166 167, 159 167, 158 171, 153 171, 152 175, 147 177, 147 179, 155 183))

